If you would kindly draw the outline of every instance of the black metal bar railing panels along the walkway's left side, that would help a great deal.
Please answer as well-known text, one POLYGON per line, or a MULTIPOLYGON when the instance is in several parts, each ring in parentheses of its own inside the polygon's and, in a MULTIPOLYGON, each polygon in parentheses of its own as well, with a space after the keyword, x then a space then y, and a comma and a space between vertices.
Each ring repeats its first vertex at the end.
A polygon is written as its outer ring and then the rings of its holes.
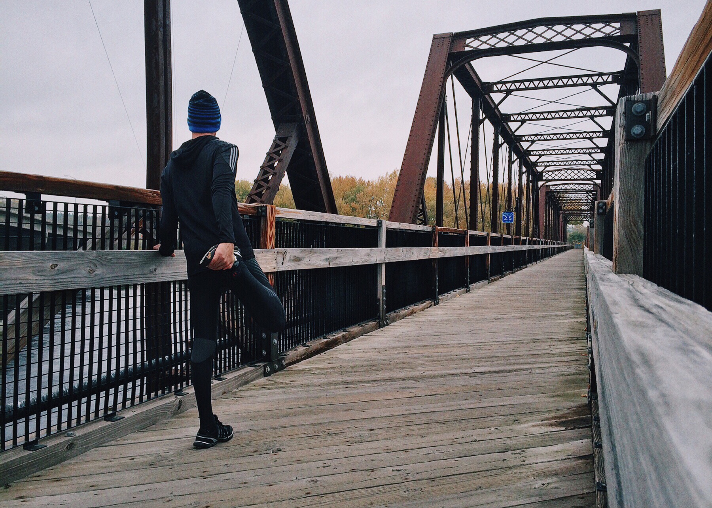
MULTIPOLYGON (((158 240, 159 211, 150 206, 23 199, 0 205, 0 250, 145 250, 158 240)), ((253 245, 260 245, 263 217, 243 220, 253 245)), ((275 237, 276 248, 376 248, 378 228, 278 218, 275 237)), ((386 246, 431 247, 433 240, 433 231, 389 229, 386 246)), ((443 247, 462 246, 464 240, 464 233, 439 233, 443 247)), ((470 240, 482 245, 486 236, 470 240)), ((468 259, 469 282, 485 280, 486 258, 387 263, 387 312, 434 299, 436 287, 439 294, 465 287, 468 259)), ((503 259, 499 254, 500 265, 503 259)), ((379 319, 376 264, 278 271, 274 281, 287 313, 280 352, 379 319)), ((189 383, 187 280, 20 294, 0 290, 0 306, 0 450, 110 418, 189 383)), ((218 340, 215 376, 266 358, 261 332, 229 292, 222 297, 218 340)))

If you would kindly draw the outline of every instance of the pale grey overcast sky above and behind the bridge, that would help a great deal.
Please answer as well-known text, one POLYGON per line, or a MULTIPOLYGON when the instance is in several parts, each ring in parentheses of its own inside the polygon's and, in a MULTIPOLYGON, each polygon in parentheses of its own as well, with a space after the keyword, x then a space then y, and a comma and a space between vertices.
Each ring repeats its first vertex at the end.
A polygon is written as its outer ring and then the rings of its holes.
MULTIPOLYGON (((136 141, 88 0, 0 1, 2 169, 145 186, 143 2, 92 1, 136 141)), ((661 9, 669 71, 703 4, 290 0, 290 9, 329 171, 374 178, 400 166, 434 33, 541 16, 661 9)), ((172 0, 174 147, 190 135, 190 95, 204 88, 222 110, 219 137, 240 147, 238 177, 253 179, 274 128, 246 34, 227 90, 242 25, 236 0, 172 0)), ((608 54, 560 61, 622 68, 622 57, 609 60, 608 54)), ((476 68, 490 80, 523 64, 486 59, 476 68)))

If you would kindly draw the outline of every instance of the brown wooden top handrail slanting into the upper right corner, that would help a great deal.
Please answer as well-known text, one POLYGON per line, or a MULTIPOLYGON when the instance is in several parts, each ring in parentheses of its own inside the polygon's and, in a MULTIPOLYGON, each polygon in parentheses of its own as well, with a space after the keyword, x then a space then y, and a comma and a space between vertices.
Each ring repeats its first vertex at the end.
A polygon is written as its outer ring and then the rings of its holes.
POLYGON ((670 75, 658 94, 657 130, 660 132, 665 122, 674 112, 695 76, 712 53, 712 0, 707 0, 702 14, 692 28, 690 35, 675 61, 670 75))

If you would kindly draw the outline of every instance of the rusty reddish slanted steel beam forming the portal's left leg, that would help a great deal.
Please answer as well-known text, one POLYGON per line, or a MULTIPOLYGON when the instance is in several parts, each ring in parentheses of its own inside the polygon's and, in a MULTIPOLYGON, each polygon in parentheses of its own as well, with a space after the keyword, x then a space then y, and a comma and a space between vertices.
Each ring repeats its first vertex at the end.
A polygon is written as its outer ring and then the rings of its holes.
POLYGON ((393 194, 390 221, 414 223, 418 216, 444 97, 444 76, 451 36, 451 33, 439 33, 433 36, 413 123, 393 194))

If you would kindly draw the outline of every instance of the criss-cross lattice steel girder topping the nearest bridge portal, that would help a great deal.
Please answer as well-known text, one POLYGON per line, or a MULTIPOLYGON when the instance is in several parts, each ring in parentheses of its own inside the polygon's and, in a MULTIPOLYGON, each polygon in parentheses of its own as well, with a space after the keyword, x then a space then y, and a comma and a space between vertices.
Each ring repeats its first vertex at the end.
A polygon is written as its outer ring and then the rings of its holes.
POLYGON ((589 38, 632 42, 637 32, 636 21, 637 16, 634 13, 529 19, 455 33, 453 51, 580 41, 589 38))

